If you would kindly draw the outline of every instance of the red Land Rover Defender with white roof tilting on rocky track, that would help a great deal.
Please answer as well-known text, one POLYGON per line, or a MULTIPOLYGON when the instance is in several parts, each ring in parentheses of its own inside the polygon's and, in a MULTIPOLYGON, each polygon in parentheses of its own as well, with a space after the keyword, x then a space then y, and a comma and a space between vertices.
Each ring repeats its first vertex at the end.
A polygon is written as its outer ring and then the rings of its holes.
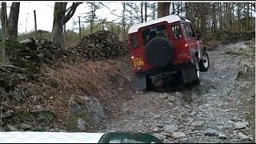
POLYGON ((135 24, 128 33, 136 90, 170 78, 199 82, 199 71, 209 69, 206 47, 186 18, 169 15, 135 24))

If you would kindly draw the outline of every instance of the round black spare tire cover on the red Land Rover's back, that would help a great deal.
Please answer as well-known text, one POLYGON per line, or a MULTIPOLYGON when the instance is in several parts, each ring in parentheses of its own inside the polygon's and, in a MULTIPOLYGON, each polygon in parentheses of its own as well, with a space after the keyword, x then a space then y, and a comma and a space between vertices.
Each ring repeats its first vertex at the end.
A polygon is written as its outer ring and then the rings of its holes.
POLYGON ((174 45, 166 38, 153 38, 146 44, 146 60, 154 67, 163 67, 174 59, 174 45))

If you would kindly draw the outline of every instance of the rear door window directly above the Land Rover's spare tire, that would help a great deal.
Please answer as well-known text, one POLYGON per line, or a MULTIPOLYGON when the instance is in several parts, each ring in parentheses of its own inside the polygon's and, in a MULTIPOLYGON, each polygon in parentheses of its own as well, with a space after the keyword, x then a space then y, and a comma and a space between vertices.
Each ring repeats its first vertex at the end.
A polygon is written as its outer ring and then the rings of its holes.
POLYGON ((165 25, 151 26, 150 28, 144 29, 142 34, 144 46, 146 46, 147 42, 150 42, 151 39, 157 37, 168 38, 165 25))

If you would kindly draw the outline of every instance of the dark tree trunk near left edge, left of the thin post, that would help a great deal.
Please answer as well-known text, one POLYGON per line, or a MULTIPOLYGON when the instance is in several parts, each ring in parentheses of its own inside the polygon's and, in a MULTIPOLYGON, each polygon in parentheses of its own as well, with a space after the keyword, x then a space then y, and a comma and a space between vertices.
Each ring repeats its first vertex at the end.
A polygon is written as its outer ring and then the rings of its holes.
POLYGON ((20 2, 12 2, 10 6, 8 25, 6 27, 6 39, 10 41, 17 41, 19 5, 20 2))

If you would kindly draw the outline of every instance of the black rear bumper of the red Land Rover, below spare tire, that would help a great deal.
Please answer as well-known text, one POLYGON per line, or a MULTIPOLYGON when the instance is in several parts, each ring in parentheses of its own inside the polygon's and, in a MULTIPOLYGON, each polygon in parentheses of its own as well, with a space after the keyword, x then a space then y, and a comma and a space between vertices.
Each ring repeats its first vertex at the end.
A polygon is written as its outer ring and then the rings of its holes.
POLYGON ((152 76, 155 74, 160 74, 162 72, 173 72, 173 71, 179 71, 179 70, 183 70, 183 69, 190 69, 193 68, 193 63, 192 62, 184 62, 184 63, 180 63, 180 64, 173 64, 173 65, 169 65, 163 68, 158 68, 158 69, 152 69, 152 70, 146 70, 146 71, 138 71, 134 74, 142 74, 142 75, 146 75, 146 76, 152 76))

